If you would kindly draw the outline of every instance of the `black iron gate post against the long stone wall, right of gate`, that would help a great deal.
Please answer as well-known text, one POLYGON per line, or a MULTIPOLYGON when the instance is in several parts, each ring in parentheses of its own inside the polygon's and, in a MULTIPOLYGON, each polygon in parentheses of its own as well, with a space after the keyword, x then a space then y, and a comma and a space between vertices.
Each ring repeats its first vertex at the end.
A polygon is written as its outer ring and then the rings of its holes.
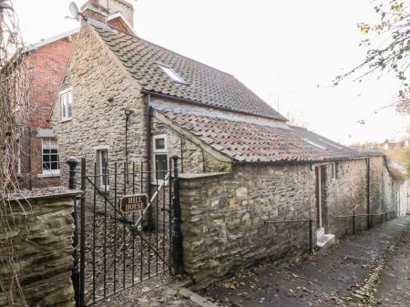
POLYGON ((174 231, 172 233, 172 264, 174 269, 174 274, 180 275, 182 273, 183 264, 183 248, 182 248, 182 232, 180 229, 181 223, 181 210, 179 203, 179 170, 178 170, 178 156, 172 156, 174 164, 174 176, 172 181, 173 186, 173 198, 172 198, 172 210, 174 213, 174 231))

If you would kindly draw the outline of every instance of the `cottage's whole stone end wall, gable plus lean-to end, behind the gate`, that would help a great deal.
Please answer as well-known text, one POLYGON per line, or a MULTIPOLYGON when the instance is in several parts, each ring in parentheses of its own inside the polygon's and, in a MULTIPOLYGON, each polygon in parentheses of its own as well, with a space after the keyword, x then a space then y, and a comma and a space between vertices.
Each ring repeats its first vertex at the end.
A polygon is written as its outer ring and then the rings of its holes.
MULTIPOLYGON (((115 162, 118 163, 118 199, 127 191, 147 192, 148 175, 143 175, 141 189, 141 163, 144 170, 148 169, 147 157, 147 128, 146 102, 141 95, 137 80, 130 77, 128 71, 113 56, 106 44, 101 44, 100 37, 94 33, 92 27, 84 25, 77 40, 72 59, 67 67, 61 89, 72 87, 73 106, 72 119, 61 121, 61 105, 56 100, 51 123, 58 138, 60 154, 61 181, 67 186, 68 169, 64 163, 67 158, 74 156, 87 159, 87 175, 92 177, 96 173, 97 148, 108 148, 109 189, 107 193, 100 187, 96 179, 97 188, 114 200, 115 162), (124 165, 126 161, 125 109, 134 113, 128 125, 128 172, 135 165, 136 175, 128 175, 124 185, 124 165), (133 184, 135 183, 135 185, 133 184), (133 187, 134 186, 134 187, 133 187)), ((166 133, 169 135, 169 157, 179 155, 179 169, 184 172, 214 171, 215 169, 230 169, 231 165, 221 165, 208 153, 202 152, 187 139, 182 139, 169 128, 152 118, 152 135, 166 133)), ((152 166, 151 166, 152 168, 152 166)), ((97 166, 97 174, 99 174, 97 166)), ((151 189, 155 190, 155 186, 151 189)), ((94 187, 87 182, 87 205, 93 206, 94 187)), ((97 193, 97 210, 104 210, 104 197, 97 193)), ((112 206, 108 203, 108 211, 112 206)))

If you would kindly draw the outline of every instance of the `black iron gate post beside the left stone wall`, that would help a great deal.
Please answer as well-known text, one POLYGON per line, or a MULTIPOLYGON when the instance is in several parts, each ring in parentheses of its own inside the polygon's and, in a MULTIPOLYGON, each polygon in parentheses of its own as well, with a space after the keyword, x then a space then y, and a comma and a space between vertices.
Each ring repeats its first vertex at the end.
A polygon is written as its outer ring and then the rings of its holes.
MULTIPOLYGON (((68 178, 68 189, 77 189, 77 165, 79 160, 71 157, 66 160, 69 168, 69 178, 68 178)), ((71 274, 71 280, 73 281, 74 287, 74 298, 76 300, 76 307, 81 307, 80 305, 80 271, 78 268, 78 220, 77 220, 77 196, 74 197, 74 233, 73 233, 73 270, 71 274)))

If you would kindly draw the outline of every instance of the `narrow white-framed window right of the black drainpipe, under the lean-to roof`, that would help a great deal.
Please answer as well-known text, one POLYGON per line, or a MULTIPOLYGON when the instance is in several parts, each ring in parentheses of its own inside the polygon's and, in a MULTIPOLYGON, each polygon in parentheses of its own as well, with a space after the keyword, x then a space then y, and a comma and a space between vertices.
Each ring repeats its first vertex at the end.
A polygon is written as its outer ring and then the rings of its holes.
POLYGON ((154 182, 162 182, 168 174, 168 138, 166 134, 152 137, 154 182))

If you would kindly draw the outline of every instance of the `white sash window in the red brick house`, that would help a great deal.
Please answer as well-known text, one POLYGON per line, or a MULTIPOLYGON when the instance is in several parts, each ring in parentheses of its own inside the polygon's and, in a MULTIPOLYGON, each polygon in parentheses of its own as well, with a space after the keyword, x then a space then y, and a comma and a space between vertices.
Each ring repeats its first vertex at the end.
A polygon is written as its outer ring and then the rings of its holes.
POLYGON ((42 138, 43 176, 59 176, 60 161, 56 138, 42 138))

